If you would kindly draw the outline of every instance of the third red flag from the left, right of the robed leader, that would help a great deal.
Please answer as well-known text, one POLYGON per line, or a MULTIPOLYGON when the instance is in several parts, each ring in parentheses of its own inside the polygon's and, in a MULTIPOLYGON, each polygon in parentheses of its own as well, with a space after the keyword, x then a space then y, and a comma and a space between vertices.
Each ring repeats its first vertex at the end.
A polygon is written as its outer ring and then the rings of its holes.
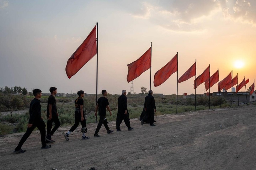
POLYGON ((177 55, 155 73, 154 86, 160 86, 175 72, 177 72, 177 55))

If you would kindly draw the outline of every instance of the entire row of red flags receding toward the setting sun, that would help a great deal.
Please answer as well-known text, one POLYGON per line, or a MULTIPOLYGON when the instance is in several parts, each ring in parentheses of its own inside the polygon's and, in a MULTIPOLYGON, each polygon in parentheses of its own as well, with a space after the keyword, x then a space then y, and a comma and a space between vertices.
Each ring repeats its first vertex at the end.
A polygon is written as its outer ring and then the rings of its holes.
MULTIPOLYGON (((87 38, 82 42, 82 44, 76 49, 76 51, 68 59, 66 65, 66 74, 70 79, 75 75, 88 61, 91 60, 97 53, 96 46, 96 26, 92 29, 87 38)), ((138 60, 130 63, 128 66, 127 81, 128 83, 137 77, 139 77, 143 72, 151 68, 151 47, 141 56, 138 60)), ((173 73, 178 70, 177 55, 170 62, 168 62, 164 67, 158 70, 154 75, 154 86, 160 86, 164 83, 173 73)), ((199 75, 196 80, 194 80, 194 89, 199 85, 204 83, 206 90, 212 87, 219 81, 219 70, 210 76, 210 66, 207 67, 204 72, 199 75)), ((196 62, 178 79, 178 83, 186 81, 191 77, 196 75, 196 62)), ((249 83, 248 80, 244 80, 236 86, 236 92, 238 92, 243 86, 249 83)), ((218 83, 218 89, 225 90, 230 89, 235 84, 238 84, 238 76, 232 79, 232 74, 224 78, 218 83)), ((250 87, 250 95, 254 92, 254 83, 250 87)))

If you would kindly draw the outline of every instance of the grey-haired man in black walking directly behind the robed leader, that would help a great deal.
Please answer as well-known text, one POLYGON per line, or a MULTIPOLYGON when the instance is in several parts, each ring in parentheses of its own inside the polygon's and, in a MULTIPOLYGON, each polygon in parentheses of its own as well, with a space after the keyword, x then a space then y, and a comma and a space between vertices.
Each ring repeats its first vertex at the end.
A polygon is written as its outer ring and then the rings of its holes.
POLYGON ((123 120, 128 130, 133 130, 133 128, 130 127, 129 112, 127 110, 126 90, 123 90, 122 95, 118 97, 117 104, 118 104, 117 120, 116 120, 117 131, 121 131, 120 124, 122 123, 123 120))

